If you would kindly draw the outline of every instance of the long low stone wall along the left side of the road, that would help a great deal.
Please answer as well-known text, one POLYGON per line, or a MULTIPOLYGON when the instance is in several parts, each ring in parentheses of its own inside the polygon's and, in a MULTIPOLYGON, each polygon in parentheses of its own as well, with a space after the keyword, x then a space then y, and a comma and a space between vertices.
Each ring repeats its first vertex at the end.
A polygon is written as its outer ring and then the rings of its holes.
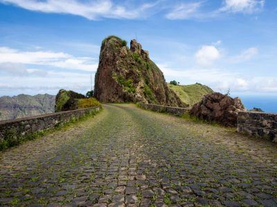
POLYGON ((21 139, 26 139, 28 135, 32 135, 35 132, 55 128, 55 126, 66 124, 74 119, 80 119, 84 115, 96 113, 99 110, 100 107, 96 106, 35 117, 0 121, 0 150, 19 144, 21 139))

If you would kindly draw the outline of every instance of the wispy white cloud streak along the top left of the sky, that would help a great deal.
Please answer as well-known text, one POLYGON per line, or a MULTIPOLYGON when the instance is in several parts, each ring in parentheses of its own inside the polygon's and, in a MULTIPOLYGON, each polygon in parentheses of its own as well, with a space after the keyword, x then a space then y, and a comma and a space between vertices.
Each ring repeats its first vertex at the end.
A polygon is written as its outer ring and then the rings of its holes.
POLYGON ((2 3, 12 3, 15 6, 46 13, 73 14, 90 20, 104 18, 136 19, 143 17, 144 12, 159 3, 143 3, 134 8, 126 8, 111 0, 0 0, 2 3))

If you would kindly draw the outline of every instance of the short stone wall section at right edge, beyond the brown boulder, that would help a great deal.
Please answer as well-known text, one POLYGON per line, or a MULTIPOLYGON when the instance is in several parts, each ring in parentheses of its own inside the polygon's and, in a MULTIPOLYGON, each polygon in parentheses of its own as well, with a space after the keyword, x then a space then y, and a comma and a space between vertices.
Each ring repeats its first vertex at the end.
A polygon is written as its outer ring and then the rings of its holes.
POLYGON ((238 112, 238 132, 277 141, 277 114, 238 112))

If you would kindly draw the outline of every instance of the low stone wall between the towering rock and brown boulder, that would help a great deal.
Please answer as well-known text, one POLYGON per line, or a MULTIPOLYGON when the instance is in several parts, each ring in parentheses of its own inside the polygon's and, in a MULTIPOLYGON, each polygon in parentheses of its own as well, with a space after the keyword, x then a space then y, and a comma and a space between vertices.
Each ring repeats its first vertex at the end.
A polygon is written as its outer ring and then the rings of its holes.
POLYGON ((147 110, 153 110, 157 112, 167 112, 172 115, 181 116, 184 115, 185 112, 188 112, 189 108, 179 108, 179 107, 171 107, 171 106, 161 106, 155 104, 148 104, 148 103, 139 103, 141 108, 147 110))

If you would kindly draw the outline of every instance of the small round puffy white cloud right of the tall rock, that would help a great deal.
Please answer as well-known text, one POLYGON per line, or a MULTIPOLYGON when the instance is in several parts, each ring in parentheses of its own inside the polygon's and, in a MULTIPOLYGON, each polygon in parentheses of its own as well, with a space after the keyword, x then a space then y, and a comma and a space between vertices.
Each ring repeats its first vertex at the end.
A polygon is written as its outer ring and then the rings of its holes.
POLYGON ((196 61, 201 66, 211 66, 214 61, 220 59, 220 51, 215 46, 202 46, 196 54, 196 61))

